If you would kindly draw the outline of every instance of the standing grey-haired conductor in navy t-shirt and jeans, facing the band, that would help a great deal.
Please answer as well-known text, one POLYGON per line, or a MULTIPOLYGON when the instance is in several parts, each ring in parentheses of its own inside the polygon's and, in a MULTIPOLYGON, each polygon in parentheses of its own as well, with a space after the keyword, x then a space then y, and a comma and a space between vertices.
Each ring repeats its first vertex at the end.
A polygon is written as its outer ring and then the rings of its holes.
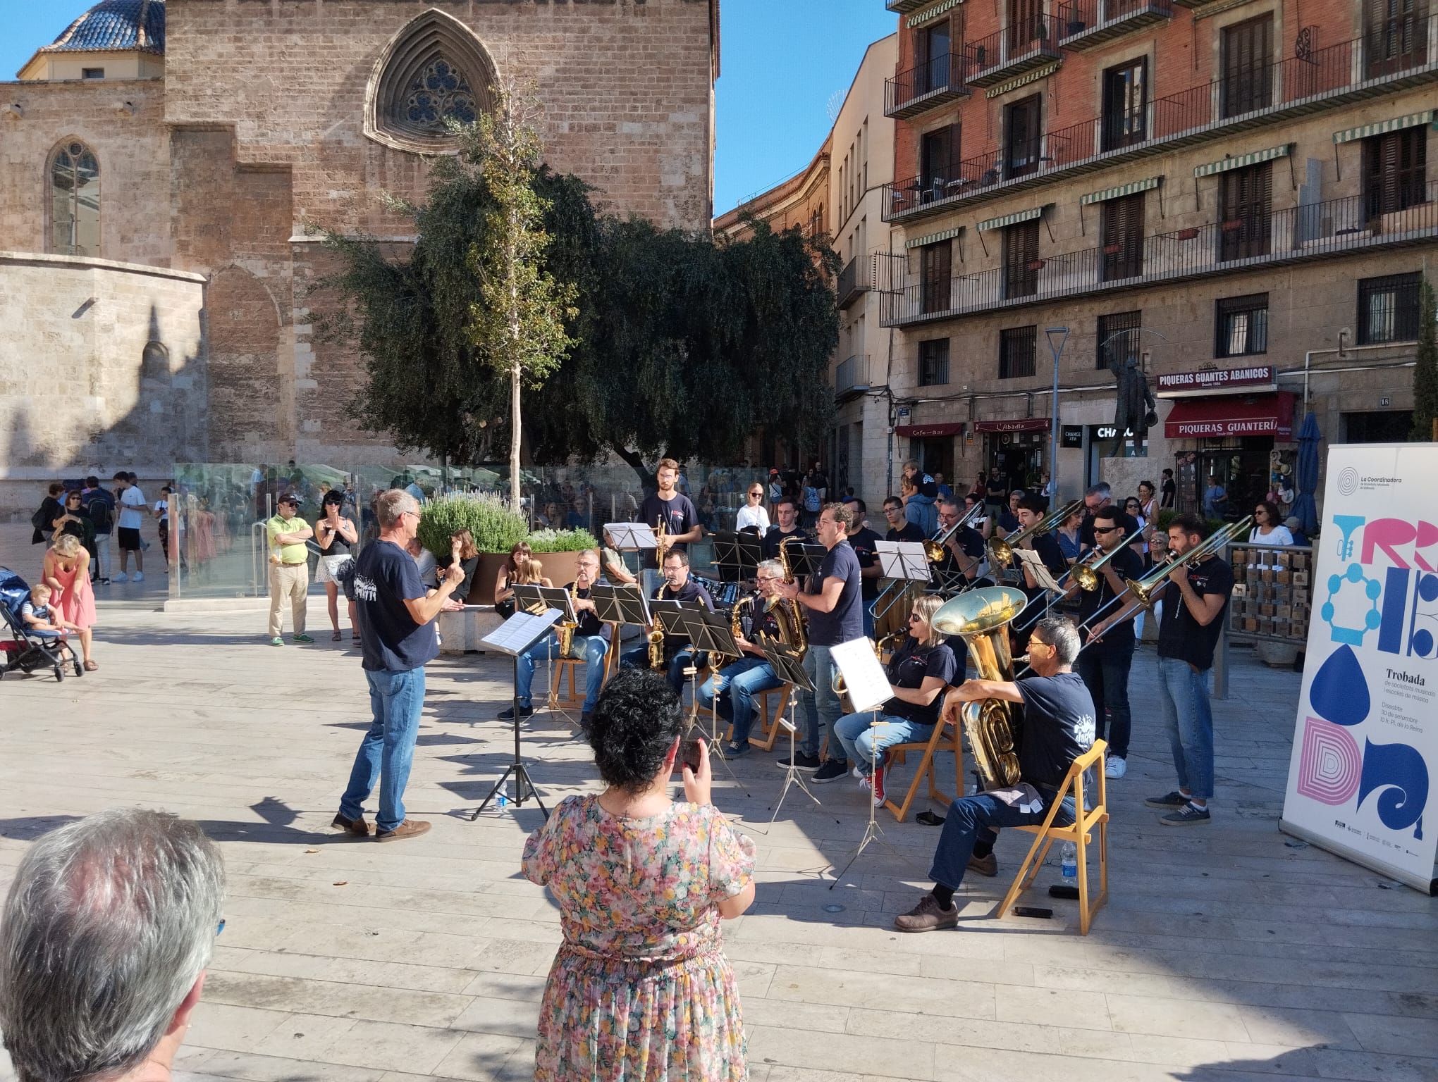
POLYGON ((437 591, 420 582, 418 565, 406 552, 420 527, 420 504, 410 493, 403 489, 380 493, 375 516, 380 537, 361 550, 354 572, 355 621, 374 720, 360 741, 332 826, 367 838, 364 802, 378 782, 374 836, 390 842, 430 829, 423 819, 404 818, 404 786, 424 708, 424 662, 440 652, 434 618, 464 581, 464 570, 452 563, 437 591))

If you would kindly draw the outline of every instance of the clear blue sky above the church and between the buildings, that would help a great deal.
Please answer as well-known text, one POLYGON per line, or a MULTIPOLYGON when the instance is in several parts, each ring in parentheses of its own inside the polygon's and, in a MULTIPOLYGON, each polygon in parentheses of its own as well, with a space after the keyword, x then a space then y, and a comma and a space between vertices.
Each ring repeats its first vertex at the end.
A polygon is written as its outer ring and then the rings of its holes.
MULTIPOLYGON (((0 0, 0 80, 92 0, 0 0)), ((883 0, 722 0, 715 213, 808 164, 864 49, 893 33, 883 0)))

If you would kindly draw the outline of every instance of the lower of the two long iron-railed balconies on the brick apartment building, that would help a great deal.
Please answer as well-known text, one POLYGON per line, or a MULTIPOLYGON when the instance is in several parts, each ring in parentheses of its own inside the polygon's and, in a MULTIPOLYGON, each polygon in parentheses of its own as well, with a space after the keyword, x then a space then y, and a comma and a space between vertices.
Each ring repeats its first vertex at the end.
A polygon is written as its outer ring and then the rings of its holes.
POLYGON ((1349 195, 1274 211, 1265 223, 1218 221, 1159 233, 1143 239, 1142 251, 1135 241, 1132 253, 1129 246, 1116 253, 1109 249, 1119 246, 1110 244, 1044 256, 1022 267, 1021 290, 1014 289, 1014 274, 1005 267, 955 274, 946 283, 919 282, 909 273, 907 256, 892 254, 896 286, 881 297, 880 325, 912 326, 1058 297, 1431 244, 1438 239, 1438 182, 1411 194, 1425 200, 1380 213, 1368 197, 1349 195))

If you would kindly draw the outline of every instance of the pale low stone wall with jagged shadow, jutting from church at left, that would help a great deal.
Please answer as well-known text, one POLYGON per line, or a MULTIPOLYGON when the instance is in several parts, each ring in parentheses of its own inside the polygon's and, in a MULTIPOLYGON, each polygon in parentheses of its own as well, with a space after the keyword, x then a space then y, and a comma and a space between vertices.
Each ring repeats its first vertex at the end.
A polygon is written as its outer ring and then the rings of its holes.
POLYGON ((198 274, 0 253, 0 514, 59 477, 209 457, 198 274))

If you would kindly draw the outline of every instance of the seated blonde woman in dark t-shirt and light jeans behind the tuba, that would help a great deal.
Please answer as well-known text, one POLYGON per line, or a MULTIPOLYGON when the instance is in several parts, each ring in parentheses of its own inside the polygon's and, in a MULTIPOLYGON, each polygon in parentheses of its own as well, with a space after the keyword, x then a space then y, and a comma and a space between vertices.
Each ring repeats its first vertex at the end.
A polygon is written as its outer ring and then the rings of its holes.
POLYGON ((893 695, 879 708, 877 721, 883 724, 874 727, 873 710, 844 714, 834 723, 844 757, 854 764, 858 785, 873 793, 874 806, 884 802, 884 749, 928 740, 939 721, 939 695, 961 672, 953 649, 933 629, 933 614, 942 605, 938 593, 913 602, 909 635, 886 667, 893 695))

